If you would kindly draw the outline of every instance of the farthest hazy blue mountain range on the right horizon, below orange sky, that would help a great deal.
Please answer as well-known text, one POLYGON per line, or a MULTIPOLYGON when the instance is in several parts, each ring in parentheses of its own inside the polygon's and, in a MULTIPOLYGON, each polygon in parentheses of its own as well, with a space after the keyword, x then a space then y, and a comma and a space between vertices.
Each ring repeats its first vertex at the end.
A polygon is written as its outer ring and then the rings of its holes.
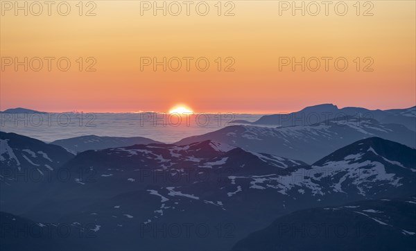
POLYGON ((343 116, 361 116, 366 119, 376 119, 381 123, 401 124, 410 130, 416 130, 416 106, 406 109, 368 110, 362 107, 344 107, 339 109, 333 104, 322 104, 305 107, 303 110, 288 114, 264 115, 252 123, 248 121, 236 121, 235 123, 275 126, 310 126, 328 119, 336 119, 343 116))

